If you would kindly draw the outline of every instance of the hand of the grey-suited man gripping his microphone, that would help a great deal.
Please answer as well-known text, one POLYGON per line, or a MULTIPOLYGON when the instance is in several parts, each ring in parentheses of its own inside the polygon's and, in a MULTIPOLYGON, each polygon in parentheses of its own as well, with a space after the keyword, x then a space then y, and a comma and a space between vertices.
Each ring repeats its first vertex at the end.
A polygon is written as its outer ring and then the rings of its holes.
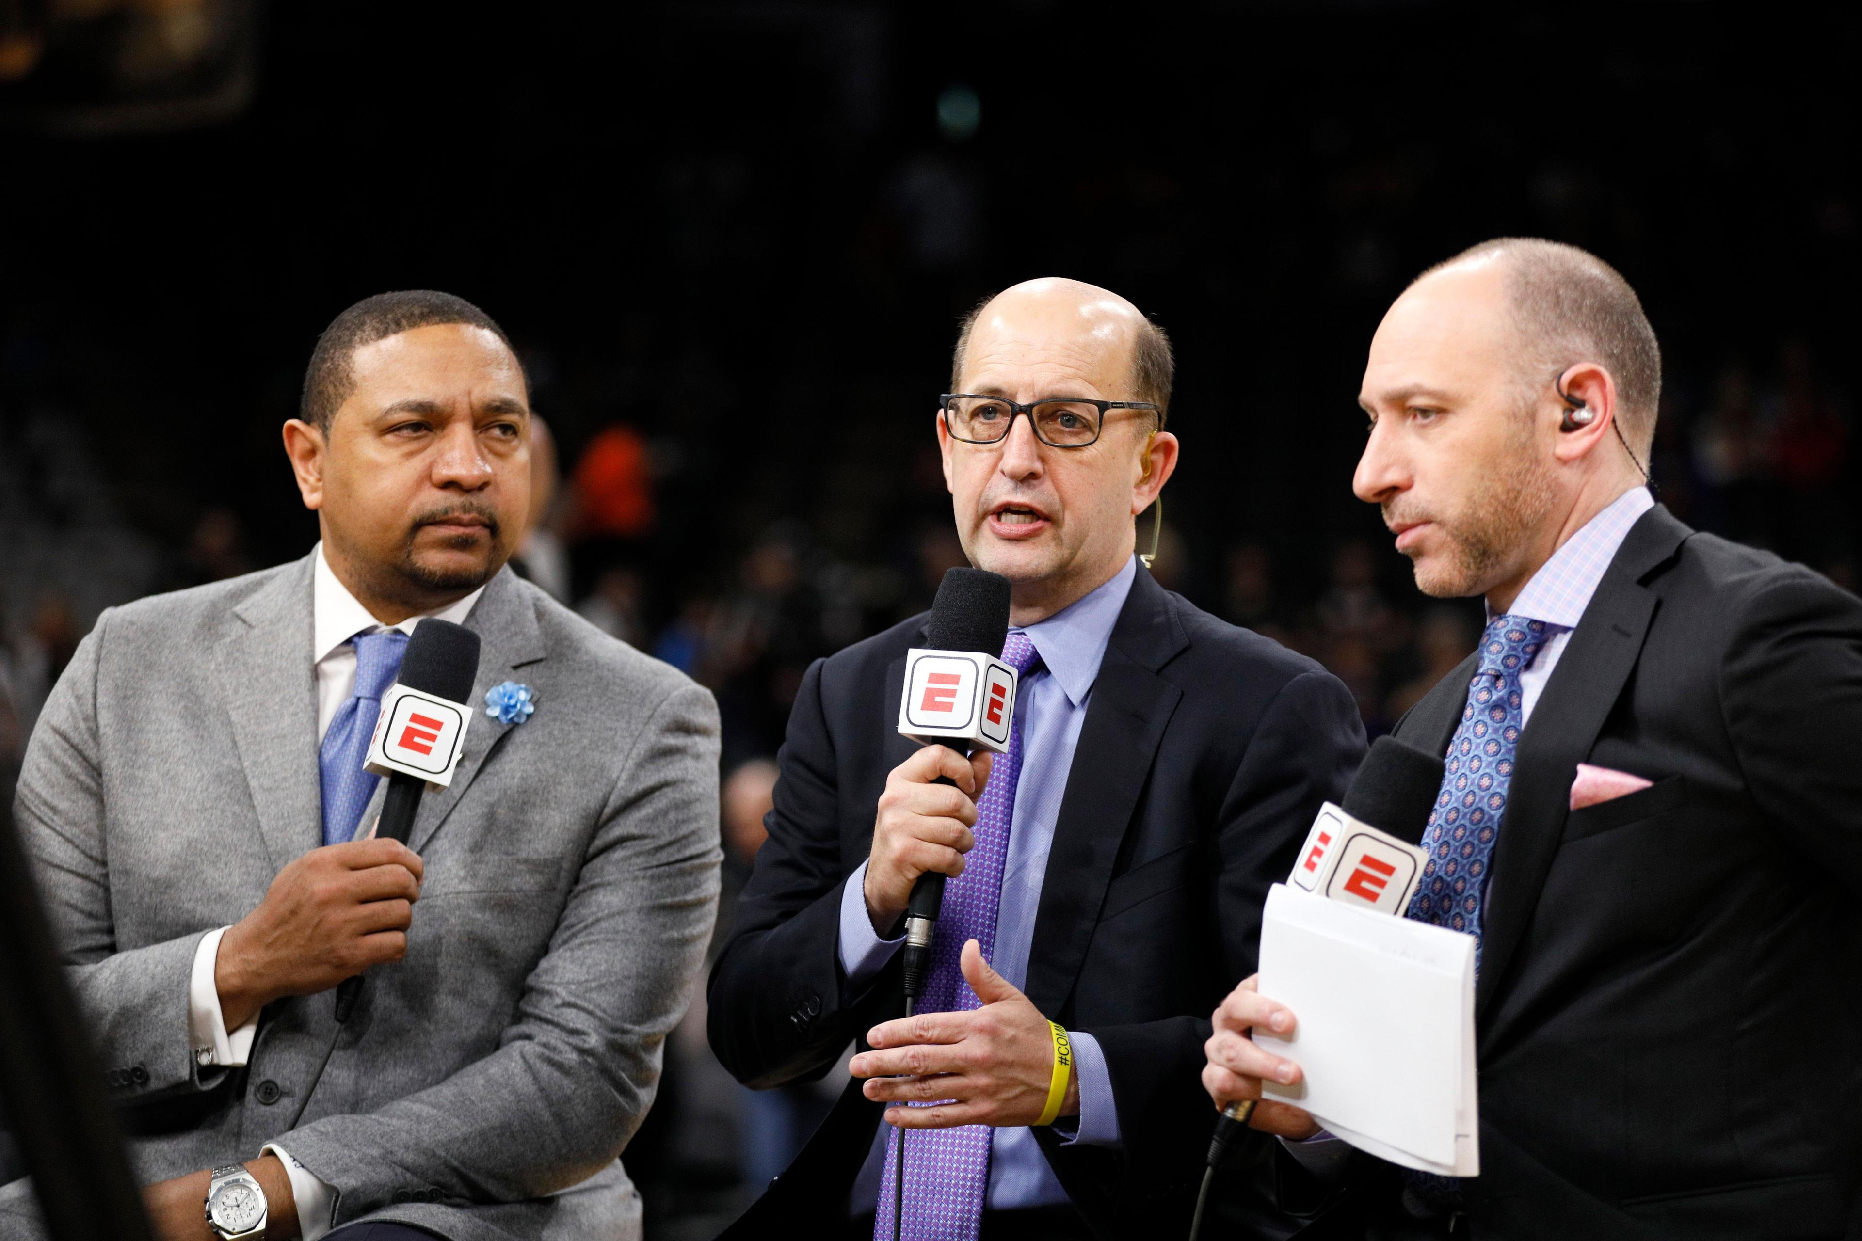
POLYGON ((315 995, 408 954, 421 858, 367 839, 304 854, 272 880, 257 910, 227 928, 214 960, 229 1031, 281 995, 315 995))

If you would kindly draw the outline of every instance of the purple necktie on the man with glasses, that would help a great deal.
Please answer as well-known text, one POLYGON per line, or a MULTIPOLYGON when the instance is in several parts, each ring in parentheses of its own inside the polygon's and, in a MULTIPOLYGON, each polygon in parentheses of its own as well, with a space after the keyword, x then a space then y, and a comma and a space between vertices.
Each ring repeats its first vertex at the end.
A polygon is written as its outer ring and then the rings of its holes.
MULTIPOLYGON (((1002 644, 1002 662, 1026 677, 1039 662, 1033 642, 1015 629, 1002 644)), ((1009 729, 1009 752, 996 755, 989 787, 976 806, 976 847, 963 874, 944 884, 944 906, 931 941, 931 977, 918 999, 918 1012, 965 1012, 981 1008, 963 979, 963 945, 976 940, 983 960, 996 954, 996 910, 1002 906, 1002 861, 1009 856, 1009 819, 1015 785, 1022 774, 1022 713, 1009 729)), ((924 1107, 929 1107, 925 1103, 924 1107)), ((912 1129, 905 1161, 905 1226, 901 1241, 976 1241, 989 1191, 989 1126, 912 1129)), ((899 1176, 899 1144, 886 1142, 886 1172, 879 1181, 873 1239, 892 1241, 892 1196, 899 1176)))

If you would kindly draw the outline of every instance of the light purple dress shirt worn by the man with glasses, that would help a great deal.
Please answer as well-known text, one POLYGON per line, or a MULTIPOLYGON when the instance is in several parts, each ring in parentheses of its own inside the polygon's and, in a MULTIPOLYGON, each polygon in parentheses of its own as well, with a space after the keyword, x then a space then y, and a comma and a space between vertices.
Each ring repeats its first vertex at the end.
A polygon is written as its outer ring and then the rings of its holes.
MULTIPOLYGON (((1112 627, 1132 592, 1138 558, 1125 562, 1112 580, 1084 599, 1061 608, 1022 633, 1041 653, 1041 666, 1022 679, 1015 696, 1015 716, 1022 726, 1022 776, 1015 785, 1015 817, 1009 821, 1009 854, 1002 863, 1002 908, 996 914, 996 958, 989 962, 996 973, 1015 986, 1028 979, 1028 953, 1033 947, 1035 912, 1041 908, 1041 882, 1046 876, 1048 848, 1054 845, 1054 822, 1067 794, 1067 772, 1073 770, 1073 752, 1080 744, 1080 726, 1086 705, 1106 657, 1112 627)), ((847 876, 840 899, 840 967, 853 986, 877 975, 905 938, 881 940, 866 915, 866 863, 847 876)), ((1069 1135, 1069 1122, 1054 1124, 1056 1133, 1069 1142, 1089 1146, 1119 1146, 1119 1113, 1112 1100, 1112 1075, 1106 1053, 1087 1033, 1073 1031, 1074 1072, 1080 1077, 1078 1128, 1069 1135)), ((879 1200, 879 1180, 884 1172, 884 1144, 892 1135, 879 1126, 873 1150, 853 1183, 849 1209, 864 1215, 879 1200)), ((907 1148, 907 1159, 911 1148, 907 1148)), ((1067 1202, 1046 1155, 1026 1128, 996 1129, 989 1148, 991 1211, 1067 1202)))

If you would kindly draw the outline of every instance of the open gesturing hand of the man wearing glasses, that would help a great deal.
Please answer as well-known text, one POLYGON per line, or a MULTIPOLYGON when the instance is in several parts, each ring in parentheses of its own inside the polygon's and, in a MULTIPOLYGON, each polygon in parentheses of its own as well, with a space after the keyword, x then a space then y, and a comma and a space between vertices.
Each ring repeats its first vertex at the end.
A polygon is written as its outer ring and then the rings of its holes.
MULTIPOLYGON (((866 1098, 890 1103, 950 1100, 937 1107, 888 1107, 886 1124, 948 1129, 959 1124, 1024 1126, 1046 1109, 1054 1081, 1054 1034, 1041 1010, 963 945, 963 977, 983 1001, 968 1012, 920 1012, 866 1034, 873 1051, 853 1057, 853 1075, 871 1077, 866 1098)), ((1080 1114, 1080 1075, 1067 1079, 1061 1116, 1080 1114)))

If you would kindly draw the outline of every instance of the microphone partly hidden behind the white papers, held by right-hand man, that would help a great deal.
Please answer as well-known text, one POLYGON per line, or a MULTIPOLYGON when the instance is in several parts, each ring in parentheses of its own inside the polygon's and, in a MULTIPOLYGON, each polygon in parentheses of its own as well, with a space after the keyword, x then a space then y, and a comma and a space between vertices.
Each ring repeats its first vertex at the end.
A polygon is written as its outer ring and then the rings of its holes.
MULTIPOLYGON (((1428 811, 1441 793, 1441 755, 1395 737, 1378 737, 1344 791, 1344 806, 1320 806, 1287 882, 1328 901, 1402 917, 1428 863, 1428 850, 1421 845, 1428 811)), ((1255 1103, 1257 1100, 1229 1103, 1216 1118, 1216 1133, 1208 1141, 1208 1170, 1203 1174, 1203 1193, 1197 1194, 1195 1222, 1190 1226, 1192 1241, 1201 1226, 1203 1198, 1216 1167, 1248 1128, 1255 1103)))

